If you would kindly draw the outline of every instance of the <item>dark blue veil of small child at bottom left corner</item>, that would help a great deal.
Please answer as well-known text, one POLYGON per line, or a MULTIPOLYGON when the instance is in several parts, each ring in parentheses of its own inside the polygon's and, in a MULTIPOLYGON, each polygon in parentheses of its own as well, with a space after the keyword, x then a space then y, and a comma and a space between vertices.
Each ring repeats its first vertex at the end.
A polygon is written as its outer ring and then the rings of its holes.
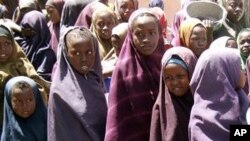
POLYGON ((36 82, 28 77, 17 76, 10 79, 6 84, 4 91, 4 122, 1 140, 47 140, 47 109, 42 101, 36 82), (35 111, 30 117, 27 118, 19 117, 12 109, 12 89, 18 82, 28 83, 35 95, 35 111))

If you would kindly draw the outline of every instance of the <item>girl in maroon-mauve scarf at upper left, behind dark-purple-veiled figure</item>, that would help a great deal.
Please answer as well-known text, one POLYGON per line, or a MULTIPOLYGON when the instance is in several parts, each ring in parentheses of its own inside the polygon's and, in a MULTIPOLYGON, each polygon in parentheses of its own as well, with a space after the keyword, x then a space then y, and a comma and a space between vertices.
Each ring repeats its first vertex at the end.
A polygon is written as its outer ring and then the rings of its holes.
POLYGON ((60 20, 63 5, 63 0, 48 0, 45 5, 49 17, 48 26, 51 33, 50 45, 56 54, 59 42, 60 20))

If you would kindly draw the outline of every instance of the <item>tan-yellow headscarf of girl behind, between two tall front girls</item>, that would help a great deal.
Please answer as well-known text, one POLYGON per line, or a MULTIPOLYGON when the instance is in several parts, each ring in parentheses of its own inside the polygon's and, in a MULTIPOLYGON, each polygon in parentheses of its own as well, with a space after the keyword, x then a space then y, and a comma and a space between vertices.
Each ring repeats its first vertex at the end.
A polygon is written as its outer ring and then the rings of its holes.
POLYGON ((99 53, 100 53, 100 59, 103 60, 103 58, 109 53, 109 51, 113 48, 112 47, 112 44, 111 44, 111 38, 109 40, 106 40, 106 39, 102 39, 100 37, 100 35, 98 34, 97 32, 97 29, 96 29, 96 22, 97 22, 97 19, 99 18, 99 15, 102 14, 102 13, 108 13, 113 21, 114 21, 114 24, 117 23, 117 19, 116 19, 116 16, 115 16, 115 13, 110 10, 109 8, 101 8, 101 9, 97 9, 93 15, 92 15, 92 25, 91 25, 91 31, 93 32, 94 36, 97 38, 98 40, 98 46, 99 46, 99 53))

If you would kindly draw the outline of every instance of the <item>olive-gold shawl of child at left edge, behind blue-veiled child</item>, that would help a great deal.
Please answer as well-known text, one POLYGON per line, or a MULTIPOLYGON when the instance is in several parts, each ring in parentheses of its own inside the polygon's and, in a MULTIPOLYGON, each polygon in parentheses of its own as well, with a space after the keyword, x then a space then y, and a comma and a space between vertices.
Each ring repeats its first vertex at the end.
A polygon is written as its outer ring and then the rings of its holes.
POLYGON ((49 82, 42 79, 25 56, 21 47, 14 41, 13 52, 6 63, 0 64, 0 88, 3 96, 4 86, 7 81, 15 76, 28 76, 37 82, 45 104, 48 101, 49 82))

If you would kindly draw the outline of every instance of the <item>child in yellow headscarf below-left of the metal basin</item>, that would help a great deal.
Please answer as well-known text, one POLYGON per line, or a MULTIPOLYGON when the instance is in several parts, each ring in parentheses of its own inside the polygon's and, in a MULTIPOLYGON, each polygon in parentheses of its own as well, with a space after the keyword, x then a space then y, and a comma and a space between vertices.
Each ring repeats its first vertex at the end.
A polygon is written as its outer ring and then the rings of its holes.
POLYGON ((203 23, 196 18, 188 18, 180 26, 181 45, 190 48, 197 58, 208 48, 207 31, 203 23))

